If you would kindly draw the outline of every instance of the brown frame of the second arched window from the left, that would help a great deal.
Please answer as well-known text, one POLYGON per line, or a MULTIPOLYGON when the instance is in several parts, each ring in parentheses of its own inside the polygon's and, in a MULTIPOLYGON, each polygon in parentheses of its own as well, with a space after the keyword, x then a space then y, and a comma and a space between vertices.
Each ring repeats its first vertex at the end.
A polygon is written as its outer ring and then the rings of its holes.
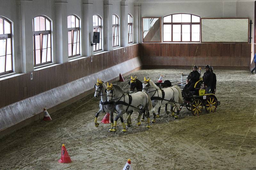
MULTIPOLYGON (((47 18, 46 16, 44 15, 39 15, 39 16, 36 16, 32 19, 32 22, 33 22, 33 53, 34 53, 34 67, 37 67, 37 66, 43 66, 45 64, 49 64, 49 63, 52 63, 52 25, 51 25, 51 20, 49 18, 47 18), (45 31, 35 31, 35 18, 36 17, 44 17, 44 27, 45 27, 45 31), (46 30, 46 19, 50 22, 50 30, 46 30), (36 64, 36 45, 35 45, 35 39, 36 39, 36 35, 40 35, 41 36, 42 34, 42 40, 41 40, 41 37, 40 37, 40 63, 39 64, 36 64), (50 53, 50 61, 47 61, 47 51, 48 51, 48 36, 47 36, 47 47, 46 47, 46 62, 42 63, 42 53, 43 53, 43 37, 44 35, 49 35, 50 34, 50 49, 51 49, 51 53, 50 53)), ((40 23, 40 21, 39 21, 40 23)), ((40 28, 40 26, 39 26, 40 28)))

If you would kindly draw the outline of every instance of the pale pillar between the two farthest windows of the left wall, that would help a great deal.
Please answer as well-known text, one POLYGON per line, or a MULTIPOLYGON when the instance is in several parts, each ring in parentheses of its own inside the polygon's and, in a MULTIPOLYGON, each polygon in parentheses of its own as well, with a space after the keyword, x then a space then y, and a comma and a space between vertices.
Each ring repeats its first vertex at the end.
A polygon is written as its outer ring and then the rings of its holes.
POLYGON ((128 46, 128 5, 127 2, 121 2, 121 46, 128 46))

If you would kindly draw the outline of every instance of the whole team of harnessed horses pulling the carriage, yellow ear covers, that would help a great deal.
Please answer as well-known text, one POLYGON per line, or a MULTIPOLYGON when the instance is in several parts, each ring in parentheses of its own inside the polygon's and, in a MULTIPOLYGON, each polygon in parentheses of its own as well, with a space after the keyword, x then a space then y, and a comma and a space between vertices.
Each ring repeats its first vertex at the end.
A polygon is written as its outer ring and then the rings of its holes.
POLYGON ((105 84, 101 80, 97 80, 95 84, 94 97, 101 97, 100 110, 96 113, 94 124, 96 127, 99 126, 97 122, 98 116, 102 113, 110 114, 111 127, 109 131, 115 132, 117 121, 120 118, 122 123, 122 132, 126 132, 126 125, 131 124, 131 115, 133 111, 139 113, 137 118, 137 125, 140 126, 141 122, 144 121, 145 116, 147 117, 147 128, 150 128, 149 111, 152 111, 153 120, 152 123, 156 122, 156 118, 159 117, 161 105, 165 105, 165 112, 167 111, 167 104, 171 105, 172 116, 174 116, 173 106, 176 106, 177 115, 174 118, 178 118, 180 104, 183 103, 181 90, 178 86, 172 86, 170 81, 166 81, 163 85, 158 86, 149 79, 144 77, 144 81, 139 81, 136 77, 131 76, 129 81, 130 91, 123 91, 117 84, 105 84), (165 88, 163 88, 165 87, 165 88), (134 92, 136 89, 136 92, 134 92), (114 119, 114 112, 117 113, 114 119), (124 123, 123 115, 128 115, 126 124, 124 123), (141 118, 143 114, 143 117, 141 118), (140 119, 141 118, 141 119, 140 119))

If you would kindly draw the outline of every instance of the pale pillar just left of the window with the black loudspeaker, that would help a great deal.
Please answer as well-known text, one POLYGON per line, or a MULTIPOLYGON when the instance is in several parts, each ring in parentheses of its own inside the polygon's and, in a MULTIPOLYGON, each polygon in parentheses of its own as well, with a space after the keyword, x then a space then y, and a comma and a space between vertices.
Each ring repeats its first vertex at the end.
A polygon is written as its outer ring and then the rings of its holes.
POLYGON ((92 23, 92 0, 83 0, 83 21, 82 21, 82 55, 92 55, 92 36, 93 36, 93 23, 92 23))

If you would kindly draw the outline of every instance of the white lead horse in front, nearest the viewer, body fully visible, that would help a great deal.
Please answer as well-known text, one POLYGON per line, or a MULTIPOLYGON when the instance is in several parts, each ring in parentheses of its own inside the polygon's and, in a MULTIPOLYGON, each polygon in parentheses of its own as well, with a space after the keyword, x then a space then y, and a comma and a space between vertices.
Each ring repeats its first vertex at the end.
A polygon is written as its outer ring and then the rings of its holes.
MULTIPOLYGON (((116 129, 116 123, 119 117, 122 117, 125 112, 134 110, 139 112, 138 116, 138 123, 137 125, 140 126, 140 117, 143 112, 143 109, 146 110, 147 118, 148 118, 148 124, 147 128, 150 128, 149 125, 149 110, 152 109, 152 103, 150 100, 150 96, 147 92, 141 92, 138 91, 136 93, 125 93, 118 85, 116 84, 107 84, 107 95, 108 95, 108 102, 114 101, 116 111, 118 112, 118 115, 115 118, 114 121, 114 127, 113 130, 116 129)), ((131 114, 129 114, 128 117, 130 117, 131 114)), ((128 118, 127 118, 128 119, 128 118)), ((126 132, 125 124, 122 123, 123 130, 122 132, 126 132)))

